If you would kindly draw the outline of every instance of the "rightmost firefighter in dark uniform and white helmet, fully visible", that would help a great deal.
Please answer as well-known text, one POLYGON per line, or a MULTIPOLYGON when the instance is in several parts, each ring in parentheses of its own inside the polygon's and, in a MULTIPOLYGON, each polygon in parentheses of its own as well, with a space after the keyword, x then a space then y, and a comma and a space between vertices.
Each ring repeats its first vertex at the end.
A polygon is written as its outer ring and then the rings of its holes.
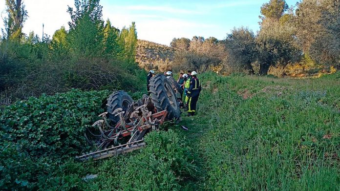
POLYGON ((199 93, 201 92, 201 83, 197 78, 197 72, 191 72, 190 86, 187 92, 188 100, 188 116, 194 116, 196 112, 196 104, 199 93))

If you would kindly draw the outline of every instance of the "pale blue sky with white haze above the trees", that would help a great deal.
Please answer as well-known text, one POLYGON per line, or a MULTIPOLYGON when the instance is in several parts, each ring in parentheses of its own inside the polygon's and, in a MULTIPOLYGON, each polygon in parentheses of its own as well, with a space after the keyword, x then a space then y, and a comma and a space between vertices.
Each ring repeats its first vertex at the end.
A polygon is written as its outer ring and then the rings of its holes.
MULTIPOLYGON (((259 29, 260 7, 269 0, 101 0, 103 19, 115 27, 136 22, 139 39, 169 45, 173 38, 203 36, 225 39, 234 27, 259 29)), ((67 5, 73 0, 24 0, 29 18, 23 32, 52 36, 70 20, 67 5)), ((286 0, 289 6, 297 0, 286 0)), ((4 17, 4 2, 0 4, 4 17)), ((3 27, 2 21, 0 26, 3 27)), ((40 35, 41 36, 41 35, 40 35)))

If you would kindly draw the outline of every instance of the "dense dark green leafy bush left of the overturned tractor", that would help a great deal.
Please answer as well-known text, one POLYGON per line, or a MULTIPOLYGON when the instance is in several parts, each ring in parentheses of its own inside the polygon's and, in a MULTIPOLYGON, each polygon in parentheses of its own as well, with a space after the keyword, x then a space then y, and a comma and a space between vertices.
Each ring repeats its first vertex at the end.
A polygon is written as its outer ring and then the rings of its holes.
POLYGON ((34 188, 51 166, 88 149, 85 129, 96 121, 109 91, 72 90, 31 97, 0 115, 0 187, 34 188))

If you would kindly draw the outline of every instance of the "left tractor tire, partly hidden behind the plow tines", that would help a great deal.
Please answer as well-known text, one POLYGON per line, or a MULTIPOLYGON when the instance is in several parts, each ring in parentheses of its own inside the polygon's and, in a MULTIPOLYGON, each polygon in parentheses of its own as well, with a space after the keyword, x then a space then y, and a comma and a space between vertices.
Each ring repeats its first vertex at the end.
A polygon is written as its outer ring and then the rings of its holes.
POLYGON ((114 110, 118 108, 122 108, 123 111, 127 111, 128 106, 133 103, 131 96, 127 94, 125 91, 116 91, 113 92, 107 99, 107 113, 108 118, 111 120, 113 124, 117 124, 119 122, 119 116, 115 116, 116 113, 113 113, 114 110))

